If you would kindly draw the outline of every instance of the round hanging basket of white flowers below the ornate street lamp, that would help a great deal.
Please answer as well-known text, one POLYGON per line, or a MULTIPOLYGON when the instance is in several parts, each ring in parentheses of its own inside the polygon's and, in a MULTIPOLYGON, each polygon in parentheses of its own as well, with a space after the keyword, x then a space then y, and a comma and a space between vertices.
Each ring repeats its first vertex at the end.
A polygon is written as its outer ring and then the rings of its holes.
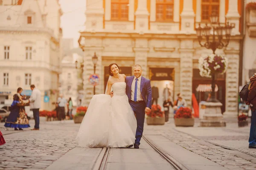
POLYGON ((212 74, 224 74, 227 71, 227 57, 210 54, 199 59, 199 70, 202 77, 212 77, 212 74))

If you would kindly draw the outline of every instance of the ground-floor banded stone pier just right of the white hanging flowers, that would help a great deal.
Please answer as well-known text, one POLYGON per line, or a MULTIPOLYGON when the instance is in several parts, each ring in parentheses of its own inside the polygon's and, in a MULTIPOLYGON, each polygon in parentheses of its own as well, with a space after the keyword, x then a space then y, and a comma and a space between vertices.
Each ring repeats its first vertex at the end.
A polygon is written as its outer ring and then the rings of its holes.
POLYGON ((239 50, 224 51, 228 58, 226 72, 226 111, 224 116, 236 117, 238 113, 239 50))

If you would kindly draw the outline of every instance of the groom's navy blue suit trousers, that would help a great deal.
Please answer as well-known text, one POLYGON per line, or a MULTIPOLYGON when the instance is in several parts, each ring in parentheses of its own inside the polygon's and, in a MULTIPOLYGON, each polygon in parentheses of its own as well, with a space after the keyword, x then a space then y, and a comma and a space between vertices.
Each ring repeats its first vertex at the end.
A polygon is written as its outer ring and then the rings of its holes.
POLYGON ((134 102, 132 100, 129 100, 129 103, 130 103, 131 108, 133 109, 134 113, 136 114, 136 119, 137 119, 137 130, 136 130, 136 135, 135 135, 135 138, 136 138, 135 143, 140 145, 140 139, 142 137, 143 127, 144 127, 146 104, 144 101, 134 102))

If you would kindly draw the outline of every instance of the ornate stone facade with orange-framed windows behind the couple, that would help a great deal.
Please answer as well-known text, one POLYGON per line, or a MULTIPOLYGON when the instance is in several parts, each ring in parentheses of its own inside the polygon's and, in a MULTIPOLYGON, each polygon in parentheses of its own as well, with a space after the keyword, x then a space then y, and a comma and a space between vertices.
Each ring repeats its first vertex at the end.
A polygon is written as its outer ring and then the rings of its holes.
MULTIPOLYGON (((219 14, 221 23, 235 23, 230 44, 216 54, 229 59, 227 73, 217 78, 222 85, 217 96, 225 113, 236 115, 241 0, 87 0, 86 30, 79 39, 86 65, 84 79, 93 74, 91 57, 96 52, 96 74, 102 80, 96 94, 104 93, 110 63, 117 63, 128 75, 140 64, 144 77, 156 83, 171 81, 167 83, 172 84, 173 100, 181 93, 191 106, 198 84, 210 84, 209 79, 198 78, 198 59, 212 51, 199 45, 195 28, 209 22, 212 12, 219 14)), ((84 90, 84 104, 88 105, 93 86, 85 81, 84 90)))

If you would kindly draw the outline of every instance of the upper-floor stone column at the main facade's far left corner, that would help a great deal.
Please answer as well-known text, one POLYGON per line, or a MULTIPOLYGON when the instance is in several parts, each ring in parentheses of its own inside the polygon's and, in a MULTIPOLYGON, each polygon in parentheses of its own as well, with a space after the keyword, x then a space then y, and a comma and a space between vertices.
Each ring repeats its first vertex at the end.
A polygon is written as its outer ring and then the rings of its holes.
POLYGON ((96 31, 103 29, 103 0, 87 0, 87 8, 85 11, 86 15, 86 30, 87 31, 96 31))

